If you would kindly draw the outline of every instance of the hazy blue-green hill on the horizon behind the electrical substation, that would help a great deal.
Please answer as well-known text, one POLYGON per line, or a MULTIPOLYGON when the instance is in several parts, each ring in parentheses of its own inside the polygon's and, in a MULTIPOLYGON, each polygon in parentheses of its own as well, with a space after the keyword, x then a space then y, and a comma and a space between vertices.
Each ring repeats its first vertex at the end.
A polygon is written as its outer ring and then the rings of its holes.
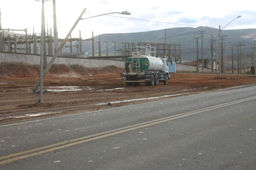
MULTIPOLYGON (((214 39, 218 42, 218 28, 211 27, 180 27, 180 28, 168 28, 167 30, 167 43, 180 44, 182 48, 182 61, 193 61, 196 59, 196 42, 194 37, 199 36, 199 31, 206 31, 203 34, 203 47, 204 58, 210 58, 211 51, 209 46, 209 35, 216 35, 214 39)), ((223 30, 221 35, 227 35, 225 38, 226 55, 230 55, 231 51, 228 49, 228 45, 238 44, 238 41, 246 42, 248 45, 253 45, 253 41, 256 40, 256 29, 232 29, 223 30)), ((165 41, 165 29, 148 32, 136 32, 136 33, 116 33, 116 34, 102 34, 101 37, 101 54, 106 55, 106 45, 103 45, 103 41, 108 42, 108 54, 114 54, 114 45, 112 41, 116 42, 116 49, 122 48, 121 42, 159 42, 165 41)), ((94 37, 95 41, 99 41, 99 36, 94 37)), ((98 53, 98 44, 95 43, 95 55, 98 53)), ((83 42, 82 50, 88 51, 89 55, 92 54, 91 42, 83 42)), ((74 50, 75 51, 75 50, 74 50)), ((251 53, 250 46, 246 48, 247 54, 251 53)), ((199 57, 201 56, 201 43, 199 43, 199 57)))

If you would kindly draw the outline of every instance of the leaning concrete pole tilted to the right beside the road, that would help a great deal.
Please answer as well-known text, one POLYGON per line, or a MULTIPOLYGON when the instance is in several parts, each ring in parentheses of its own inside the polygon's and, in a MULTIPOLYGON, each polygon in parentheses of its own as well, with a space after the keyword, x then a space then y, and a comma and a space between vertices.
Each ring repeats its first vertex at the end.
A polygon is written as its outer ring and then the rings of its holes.
MULTIPOLYGON (((68 32, 66 38, 64 39, 63 43, 61 43, 60 47, 57 49, 56 53, 54 54, 54 56, 52 57, 52 60, 50 61, 50 63, 46 66, 44 73, 43 73, 43 78, 45 77, 46 73, 50 70, 53 62, 56 60, 57 56, 59 55, 61 49, 64 47, 65 43, 67 42, 68 37, 71 35, 72 31, 74 30, 75 26, 77 26, 78 22, 80 21, 80 19, 82 18, 82 15, 85 13, 86 8, 84 10, 82 10, 82 13, 80 14, 80 16, 78 17, 77 21, 75 21, 75 24, 73 25, 73 27, 70 29, 70 32, 68 32)), ((37 83, 33 86, 32 88, 32 92, 36 92, 37 87, 40 83, 40 78, 37 80, 37 83)))

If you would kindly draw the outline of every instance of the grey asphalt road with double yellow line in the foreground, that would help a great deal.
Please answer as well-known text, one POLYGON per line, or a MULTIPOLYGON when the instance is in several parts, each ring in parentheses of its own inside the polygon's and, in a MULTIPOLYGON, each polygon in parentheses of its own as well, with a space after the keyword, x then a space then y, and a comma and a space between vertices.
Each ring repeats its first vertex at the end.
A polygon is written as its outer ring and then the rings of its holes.
POLYGON ((0 169, 256 169, 256 86, 0 125, 0 169))

